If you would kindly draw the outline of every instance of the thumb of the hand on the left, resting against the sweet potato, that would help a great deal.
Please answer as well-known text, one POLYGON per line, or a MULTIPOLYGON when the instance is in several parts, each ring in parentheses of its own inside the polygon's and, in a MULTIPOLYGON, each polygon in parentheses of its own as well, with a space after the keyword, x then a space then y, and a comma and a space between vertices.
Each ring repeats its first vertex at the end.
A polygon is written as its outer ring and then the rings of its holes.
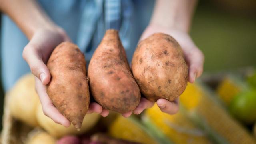
POLYGON ((48 84, 51 75, 42 60, 42 54, 40 54, 32 44, 28 43, 23 50, 22 56, 28 63, 32 74, 39 78, 42 84, 48 84))

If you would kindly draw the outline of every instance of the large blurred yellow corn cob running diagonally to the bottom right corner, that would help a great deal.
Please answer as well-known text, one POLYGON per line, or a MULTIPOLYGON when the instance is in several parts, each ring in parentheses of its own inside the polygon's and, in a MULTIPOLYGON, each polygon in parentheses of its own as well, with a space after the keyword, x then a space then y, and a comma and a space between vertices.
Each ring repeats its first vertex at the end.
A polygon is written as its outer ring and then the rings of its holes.
POLYGON ((185 92, 180 96, 180 103, 186 108, 190 118, 201 128, 206 130, 216 143, 255 144, 255 139, 222 107, 218 99, 202 84, 188 84, 185 92), (191 95, 198 91, 201 95, 191 95), (198 104, 189 107, 195 98, 198 104))

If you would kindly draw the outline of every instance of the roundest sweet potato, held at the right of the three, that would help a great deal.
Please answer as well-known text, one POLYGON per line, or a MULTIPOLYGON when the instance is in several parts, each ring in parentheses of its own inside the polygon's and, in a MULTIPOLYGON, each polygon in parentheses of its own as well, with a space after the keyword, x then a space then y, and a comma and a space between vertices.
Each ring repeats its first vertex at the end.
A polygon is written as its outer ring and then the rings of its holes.
POLYGON ((174 38, 156 33, 142 40, 132 58, 132 73, 148 100, 175 100, 185 90, 188 66, 174 38))

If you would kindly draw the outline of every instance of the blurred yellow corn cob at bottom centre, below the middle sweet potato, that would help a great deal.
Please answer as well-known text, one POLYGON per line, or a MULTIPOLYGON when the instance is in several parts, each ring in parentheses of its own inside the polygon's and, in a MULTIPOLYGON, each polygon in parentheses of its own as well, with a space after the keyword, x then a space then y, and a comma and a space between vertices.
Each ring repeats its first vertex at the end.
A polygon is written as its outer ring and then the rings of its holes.
POLYGON ((110 125, 108 133, 114 138, 120 138, 142 144, 160 144, 152 138, 147 130, 135 118, 118 118, 110 125))

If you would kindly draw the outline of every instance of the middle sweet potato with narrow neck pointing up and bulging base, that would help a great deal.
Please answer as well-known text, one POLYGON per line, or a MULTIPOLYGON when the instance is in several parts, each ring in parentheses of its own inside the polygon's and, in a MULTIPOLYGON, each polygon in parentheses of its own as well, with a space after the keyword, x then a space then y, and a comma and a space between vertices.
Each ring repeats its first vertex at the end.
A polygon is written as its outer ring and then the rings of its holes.
POLYGON ((103 108, 125 113, 138 106, 140 89, 130 71, 118 31, 106 31, 91 58, 88 77, 90 92, 103 108))

